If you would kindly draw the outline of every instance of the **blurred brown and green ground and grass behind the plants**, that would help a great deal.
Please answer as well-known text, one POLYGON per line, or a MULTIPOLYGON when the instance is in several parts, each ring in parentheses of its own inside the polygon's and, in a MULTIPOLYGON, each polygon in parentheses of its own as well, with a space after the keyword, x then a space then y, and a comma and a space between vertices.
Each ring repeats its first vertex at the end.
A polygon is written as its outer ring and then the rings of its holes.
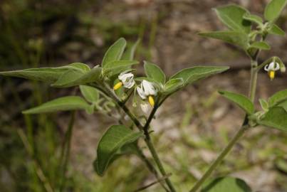
MULTIPOLYGON (((212 7, 236 3, 262 15, 267 0, 1 0, 0 71, 99 64, 120 37, 142 42, 137 60, 157 63, 172 75, 193 65, 229 65, 221 75, 187 87, 169 98, 152 123, 152 137, 179 191, 187 191, 239 129, 244 112, 219 97, 216 90, 246 94, 249 59, 221 41, 197 36, 224 26, 212 7)), ((287 30, 287 11, 278 26, 287 30)), ((272 50, 287 63, 286 37, 268 37, 272 50)), ((138 74, 143 73, 142 65, 138 74)), ((277 75, 277 74, 276 74, 277 75)), ((272 82, 259 74, 258 97, 286 89, 287 74, 272 82)), ((1 191, 57 191, 58 158, 70 112, 24 116, 21 111, 73 89, 0 77, 1 191)), ((257 99, 258 99, 257 97, 257 99)), ((258 100, 256 100, 258 101, 258 100)), ((256 102, 257 107, 259 103, 256 102)), ((135 191, 155 178, 136 156, 115 161, 105 176, 93 171, 95 149, 109 119, 77 112, 64 191, 135 191)), ((145 151, 147 156, 150 156, 145 151)), ((243 178, 254 191, 287 191, 287 133, 258 127, 236 144, 214 176, 243 178)), ((162 191, 155 185, 147 191, 162 191)))

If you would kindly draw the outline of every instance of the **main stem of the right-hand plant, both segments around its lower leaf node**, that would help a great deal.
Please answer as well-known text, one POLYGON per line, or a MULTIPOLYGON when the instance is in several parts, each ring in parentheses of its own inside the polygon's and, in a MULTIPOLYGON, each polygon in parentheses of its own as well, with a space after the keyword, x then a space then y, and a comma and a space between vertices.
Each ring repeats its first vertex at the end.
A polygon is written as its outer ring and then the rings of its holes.
MULTIPOLYGON (((257 56, 258 55, 259 55, 259 50, 255 53, 253 57, 251 57, 251 80, 250 80, 250 85, 249 85, 249 98, 251 102, 254 102, 255 95, 256 95, 257 74, 258 74, 256 67, 257 67, 257 56)), ((242 127, 239 129, 238 132, 236 132, 235 136, 231 139, 229 144, 227 144, 227 146, 223 149, 223 151, 221 151, 221 153, 216 158, 216 160, 212 163, 211 166, 209 166, 209 169, 207 169, 207 171, 204 173, 202 178, 200 178, 199 181, 197 181, 197 183, 194 185, 194 187, 192 188, 190 192, 196 192, 200 188, 200 186, 202 186, 204 181, 206 181, 207 178, 212 174, 214 169, 216 169, 216 167, 221 163, 224 157, 229 153, 229 151, 231 151, 234 144, 238 142, 238 140, 242 137, 242 135, 248 128, 249 128, 249 125, 248 125, 248 119, 246 115, 242 127)))

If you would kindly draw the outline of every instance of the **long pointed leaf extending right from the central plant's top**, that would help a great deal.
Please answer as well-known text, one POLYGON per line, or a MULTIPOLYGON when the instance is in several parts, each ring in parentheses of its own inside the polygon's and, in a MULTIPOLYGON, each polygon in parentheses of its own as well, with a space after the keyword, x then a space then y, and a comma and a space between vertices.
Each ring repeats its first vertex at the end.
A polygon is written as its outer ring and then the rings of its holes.
POLYGON ((222 66, 222 67, 221 66, 195 66, 192 68, 186 68, 186 69, 180 70, 179 72, 172 75, 172 77, 169 78, 169 80, 182 78, 184 82, 184 86, 185 86, 197 80, 207 78, 210 75, 222 73, 228 69, 229 67, 226 67, 226 66, 222 66))

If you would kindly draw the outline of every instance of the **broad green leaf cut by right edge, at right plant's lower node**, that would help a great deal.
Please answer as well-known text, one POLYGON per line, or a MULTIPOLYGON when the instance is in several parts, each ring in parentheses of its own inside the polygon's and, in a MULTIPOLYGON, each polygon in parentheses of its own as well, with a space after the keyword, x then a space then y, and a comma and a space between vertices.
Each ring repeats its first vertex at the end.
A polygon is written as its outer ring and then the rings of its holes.
POLYGON ((263 115, 258 123, 266 127, 287 131, 287 112, 283 107, 269 108, 268 112, 263 115))

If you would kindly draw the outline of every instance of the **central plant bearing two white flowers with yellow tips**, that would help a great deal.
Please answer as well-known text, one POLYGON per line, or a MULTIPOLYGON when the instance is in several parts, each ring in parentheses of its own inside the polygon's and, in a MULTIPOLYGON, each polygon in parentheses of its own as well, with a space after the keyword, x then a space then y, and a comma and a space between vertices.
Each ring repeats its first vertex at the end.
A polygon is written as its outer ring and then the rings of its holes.
POLYGON ((152 144, 150 122, 157 109, 174 92, 197 80, 224 72, 228 67, 194 66, 167 78, 158 65, 144 61, 146 76, 136 77, 132 67, 140 63, 134 60, 137 43, 127 50, 125 46, 125 39, 120 38, 110 46, 102 63, 93 68, 84 63, 72 63, 58 68, 31 68, 0 74, 40 80, 58 88, 79 87, 81 95, 60 97, 26 110, 24 114, 85 110, 88 114, 98 112, 114 117, 118 124, 109 127, 98 143, 97 159, 94 161, 96 173, 103 176, 120 156, 136 154, 159 179, 165 191, 175 191, 152 144), (135 107, 140 108, 143 114, 134 113, 138 111, 133 110, 135 107), (145 141, 155 165, 142 153, 138 139, 145 141), (162 182, 164 180, 165 183, 162 182))

